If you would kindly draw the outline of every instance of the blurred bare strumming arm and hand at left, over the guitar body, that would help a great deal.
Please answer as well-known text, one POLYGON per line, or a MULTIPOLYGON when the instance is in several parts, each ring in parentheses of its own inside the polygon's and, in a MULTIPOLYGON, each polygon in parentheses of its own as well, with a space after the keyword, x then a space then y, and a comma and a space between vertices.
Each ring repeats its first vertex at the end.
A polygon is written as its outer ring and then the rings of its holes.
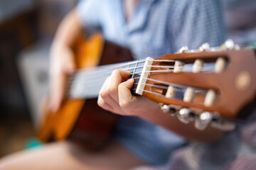
POLYGON ((75 64, 71 45, 82 30, 76 9, 70 11, 58 27, 50 49, 50 110, 56 111, 65 94, 66 74, 75 64))

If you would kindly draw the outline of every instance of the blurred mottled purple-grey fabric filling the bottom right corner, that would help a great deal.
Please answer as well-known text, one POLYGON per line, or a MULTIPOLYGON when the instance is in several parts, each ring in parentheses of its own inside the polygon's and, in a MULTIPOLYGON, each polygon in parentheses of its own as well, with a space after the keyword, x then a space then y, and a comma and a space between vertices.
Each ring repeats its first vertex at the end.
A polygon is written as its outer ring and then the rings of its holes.
POLYGON ((190 142, 176 150, 165 166, 134 170, 253 170, 256 169, 256 110, 218 142, 190 142))

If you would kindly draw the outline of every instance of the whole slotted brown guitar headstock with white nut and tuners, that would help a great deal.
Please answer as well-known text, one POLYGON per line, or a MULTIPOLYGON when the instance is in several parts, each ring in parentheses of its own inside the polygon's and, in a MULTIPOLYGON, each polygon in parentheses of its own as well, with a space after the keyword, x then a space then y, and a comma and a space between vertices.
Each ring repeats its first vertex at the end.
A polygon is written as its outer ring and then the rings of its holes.
POLYGON ((235 118, 255 98, 255 50, 232 40, 220 47, 182 47, 176 54, 147 58, 144 67, 137 94, 161 103, 183 123, 195 120, 198 129, 210 122, 233 128, 223 118, 235 118))

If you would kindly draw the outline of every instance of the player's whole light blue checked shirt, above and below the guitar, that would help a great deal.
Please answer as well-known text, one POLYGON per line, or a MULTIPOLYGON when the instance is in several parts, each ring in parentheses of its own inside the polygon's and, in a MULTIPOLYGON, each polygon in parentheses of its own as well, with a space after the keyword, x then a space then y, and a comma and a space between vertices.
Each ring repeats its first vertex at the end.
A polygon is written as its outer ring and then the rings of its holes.
MULTIPOLYGON (((129 47, 136 59, 161 57, 184 45, 198 48, 225 40, 220 1, 142 0, 131 20, 124 17, 122 0, 84 0, 77 7, 87 31, 101 30, 105 39, 129 47)), ((166 164, 181 137, 139 118, 119 118, 115 139, 145 162, 166 164)))

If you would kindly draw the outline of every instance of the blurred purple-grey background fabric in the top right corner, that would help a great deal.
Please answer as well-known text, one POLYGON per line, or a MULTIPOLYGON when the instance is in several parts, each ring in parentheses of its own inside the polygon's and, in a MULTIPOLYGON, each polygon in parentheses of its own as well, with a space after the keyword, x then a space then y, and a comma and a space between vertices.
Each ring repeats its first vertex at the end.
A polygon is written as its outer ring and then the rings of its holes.
POLYGON ((256 47, 256 1, 225 0, 225 26, 228 37, 239 45, 256 47))

